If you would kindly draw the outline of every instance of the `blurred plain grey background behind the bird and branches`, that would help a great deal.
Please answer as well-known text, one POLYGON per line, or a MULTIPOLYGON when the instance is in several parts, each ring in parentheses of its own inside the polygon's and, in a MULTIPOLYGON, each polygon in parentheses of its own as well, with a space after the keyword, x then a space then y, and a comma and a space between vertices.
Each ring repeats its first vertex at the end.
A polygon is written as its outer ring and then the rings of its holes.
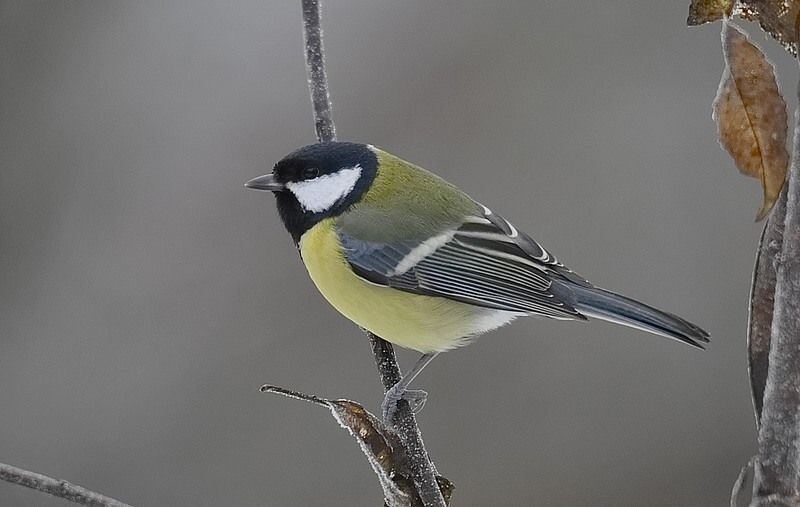
MULTIPOLYGON (((719 25, 686 4, 325 6, 340 138, 713 335, 530 319, 441 357, 419 419, 454 505, 726 505, 755 450, 761 191, 717 145, 719 25)), ((242 187, 314 141, 302 55, 297 0, 0 1, 0 461, 137 506, 380 504, 324 410, 258 392, 381 399, 366 338, 242 187)), ((0 504, 64 505, 6 483, 0 504)))

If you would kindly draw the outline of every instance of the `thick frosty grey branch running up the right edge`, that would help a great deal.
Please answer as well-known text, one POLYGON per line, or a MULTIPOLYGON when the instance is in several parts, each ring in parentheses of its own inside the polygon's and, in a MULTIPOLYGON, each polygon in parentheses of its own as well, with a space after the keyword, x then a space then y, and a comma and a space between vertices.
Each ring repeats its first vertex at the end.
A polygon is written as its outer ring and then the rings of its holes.
MULTIPOLYGON (((798 88, 800 94, 800 88, 798 88)), ((800 444, 800 111, 795 113, 783 248, 776 259, 769 372, 758 434, 753 506, 797 500, 800 444)))

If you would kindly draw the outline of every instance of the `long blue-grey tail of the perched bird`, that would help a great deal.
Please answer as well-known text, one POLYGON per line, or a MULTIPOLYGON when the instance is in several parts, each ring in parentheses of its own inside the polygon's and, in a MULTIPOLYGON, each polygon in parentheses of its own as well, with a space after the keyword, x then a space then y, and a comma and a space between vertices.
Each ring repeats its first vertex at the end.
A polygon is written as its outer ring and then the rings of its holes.
POLYGON ((566 285, 575 296, 575 309, 587 317, 614 322, 653 334, 666 336, 697 348, 704 348, 709 334, 677 315, 621 296, 599 287, 566 285))

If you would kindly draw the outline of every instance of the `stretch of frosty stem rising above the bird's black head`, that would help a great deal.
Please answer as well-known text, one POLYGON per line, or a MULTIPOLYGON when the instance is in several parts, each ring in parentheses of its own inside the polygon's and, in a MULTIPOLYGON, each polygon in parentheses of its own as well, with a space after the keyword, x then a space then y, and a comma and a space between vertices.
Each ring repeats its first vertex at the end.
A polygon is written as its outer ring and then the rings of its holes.
POLYGON ((336 140, 336 125, 331 116, 328 76, 325 74, 325 53, 322 49, 322 25, 319 20, 319 0, 303 1, 303 39, 306 46, 306 72, 317 139, 326 143, 336 140))

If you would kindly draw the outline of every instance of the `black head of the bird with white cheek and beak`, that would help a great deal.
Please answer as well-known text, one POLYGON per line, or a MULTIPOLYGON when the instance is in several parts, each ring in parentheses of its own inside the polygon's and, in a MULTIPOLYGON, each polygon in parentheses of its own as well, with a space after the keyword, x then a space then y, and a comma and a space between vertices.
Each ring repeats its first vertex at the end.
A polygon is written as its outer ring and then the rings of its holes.
POLYGON ((245 186, 275 193, 281 219, 297 243, 314 224, 358 202, 377 169, 378 158, 365 144, 311 144, 286 155, 272 174, 245 186))

